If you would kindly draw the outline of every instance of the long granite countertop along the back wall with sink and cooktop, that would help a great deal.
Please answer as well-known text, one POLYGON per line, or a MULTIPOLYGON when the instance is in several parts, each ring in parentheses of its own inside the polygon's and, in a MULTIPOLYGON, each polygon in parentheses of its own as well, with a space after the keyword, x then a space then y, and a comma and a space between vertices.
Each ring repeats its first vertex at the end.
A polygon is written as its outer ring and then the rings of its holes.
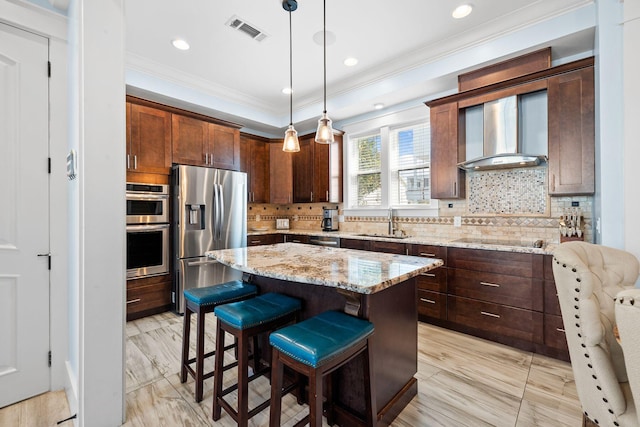
POLYGON ((278 230, 278 229, 261 229, 259 231, 249 230, 247 235, 259 236, 264 234, 297 234, 306 236, 332 236, 339 237, 341 239, 359 239, 359 240, 382 240, 388 242, 398 243, 411 243, 418 245, 433 245, 433 246, 449 246, 456 248, 468 248, 468 249, 486 249, 493 251, 506 251, 506 252, 519 252, 519 253, 533 253, 533 254, 552 254, 553 250, 557 246, 553 243, 546 243, 541 248, 533 247, 533 245, 522 244, 514 241, 502 241, 497 239, 474 239, 471 241, 468 238, 433 238, 423 236, 408 236, 403 238, 385 237, 383 235, 363 235, 360 233, 349 233, 344 231, 311 231, 311 230, 278 230))

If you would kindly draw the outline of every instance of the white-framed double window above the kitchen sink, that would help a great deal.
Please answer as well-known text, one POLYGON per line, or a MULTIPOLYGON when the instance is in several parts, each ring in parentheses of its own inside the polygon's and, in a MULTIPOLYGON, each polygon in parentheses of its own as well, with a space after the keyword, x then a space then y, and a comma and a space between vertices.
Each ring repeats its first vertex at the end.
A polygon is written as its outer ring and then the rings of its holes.
POLYGON ((428 118, 348 139, 347 209, 430 207, 428 118))

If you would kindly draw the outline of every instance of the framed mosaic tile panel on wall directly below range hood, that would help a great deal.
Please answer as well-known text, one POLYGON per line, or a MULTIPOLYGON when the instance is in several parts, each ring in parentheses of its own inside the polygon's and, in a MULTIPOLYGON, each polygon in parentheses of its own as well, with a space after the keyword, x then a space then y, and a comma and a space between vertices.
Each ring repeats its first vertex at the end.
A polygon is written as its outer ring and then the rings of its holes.
POLYGON ((470 214, 544 215, 546 168, 468 172, 470 214))

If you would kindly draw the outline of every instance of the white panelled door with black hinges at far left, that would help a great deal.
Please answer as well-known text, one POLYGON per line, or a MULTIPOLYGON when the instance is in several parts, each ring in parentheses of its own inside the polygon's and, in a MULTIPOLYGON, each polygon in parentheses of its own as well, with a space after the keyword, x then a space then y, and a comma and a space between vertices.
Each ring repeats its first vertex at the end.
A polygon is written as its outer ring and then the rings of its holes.
POLYGON ((48 57, 0 24, 0 407, 50 384, 48 57))

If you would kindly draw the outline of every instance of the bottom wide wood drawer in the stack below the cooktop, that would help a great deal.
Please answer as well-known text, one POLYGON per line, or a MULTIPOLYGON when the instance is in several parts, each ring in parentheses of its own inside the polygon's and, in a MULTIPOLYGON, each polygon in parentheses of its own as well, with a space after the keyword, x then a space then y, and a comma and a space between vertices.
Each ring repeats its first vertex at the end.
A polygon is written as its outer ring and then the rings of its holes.
POLYGON ((447 320, 503 337, 543 341, 543 314, 536 311, 450 295, 447 320))

